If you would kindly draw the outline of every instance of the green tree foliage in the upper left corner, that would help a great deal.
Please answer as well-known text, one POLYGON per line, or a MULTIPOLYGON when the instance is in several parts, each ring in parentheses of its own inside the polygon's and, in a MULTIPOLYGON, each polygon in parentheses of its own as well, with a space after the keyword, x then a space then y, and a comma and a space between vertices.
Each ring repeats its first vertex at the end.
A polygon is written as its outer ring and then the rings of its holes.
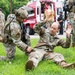
POLYGON ((26 5, 28 1, 29 0, 0 0, 0 8, 2 8, 3 13, 7 16, 10 13, 11 7, 13 11, 16 8, 26 5))

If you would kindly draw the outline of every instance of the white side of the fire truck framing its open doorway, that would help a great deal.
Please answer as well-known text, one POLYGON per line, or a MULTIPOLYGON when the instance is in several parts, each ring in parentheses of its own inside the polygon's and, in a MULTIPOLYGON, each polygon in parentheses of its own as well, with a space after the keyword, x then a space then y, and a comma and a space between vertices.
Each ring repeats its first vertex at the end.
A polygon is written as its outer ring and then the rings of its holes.
MULTIPOLYGON (((56 12, 55 9, 55 2, 52 2, 51 0, 37 0, 36 1, 36 20, 37 22, 40 22, 42 20, 44 20, 45 15, 44 15, 44 11, 45 11, 45 4, 48 3, 51 5, 51 9, 56 12)), ((54 21, 56 21, 56 14, 54 14, 54 21)))

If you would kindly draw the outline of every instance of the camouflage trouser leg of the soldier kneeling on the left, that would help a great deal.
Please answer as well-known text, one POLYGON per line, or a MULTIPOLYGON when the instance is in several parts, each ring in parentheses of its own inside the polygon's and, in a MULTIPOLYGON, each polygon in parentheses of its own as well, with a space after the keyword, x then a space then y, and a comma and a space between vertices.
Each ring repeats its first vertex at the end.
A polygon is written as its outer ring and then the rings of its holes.
POLYGON ((6 50, 6 56, 0 56, 0 60, 11 60, 14 58, 15 56, 15 52, 16 52, 16 47, 15 45, 12 44, 3 44, 6 50))

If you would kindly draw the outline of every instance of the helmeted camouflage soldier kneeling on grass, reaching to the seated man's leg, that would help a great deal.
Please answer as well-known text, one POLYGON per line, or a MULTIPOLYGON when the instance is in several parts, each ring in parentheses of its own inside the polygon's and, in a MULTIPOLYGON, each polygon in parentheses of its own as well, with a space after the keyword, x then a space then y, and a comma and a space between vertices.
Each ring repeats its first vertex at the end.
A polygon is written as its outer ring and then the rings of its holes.
MULTIPOLYGON (((27 13, 26 11, 23 11, 23 12, 21 11, 21 13, 19 11, 17 12, 20 16, 21 21, 23 21, 28 16, 26 14, 27 13)), ((21 41, 21 27, 19 25, 19 22, 16 20, 16 16, 14 14, 10 14, 7 17, 7 22, 6 22, 5 29, 4 29, 3 43, 6 49, 6 56, 0 56, 0 60, 13 59, 15 56, 15 52, 16 52, 16 44, 18 44, 17 46, 23 52, 26 52, 27 49, 28 51, 31 50, 31 47, 29 47, 28 45, 26 45, 25 43, 21 41), (15 39, 16 42, 14 42, 12 38, 15 39), (23 49, 21 48, 19 44, 23 47, 23 49)))

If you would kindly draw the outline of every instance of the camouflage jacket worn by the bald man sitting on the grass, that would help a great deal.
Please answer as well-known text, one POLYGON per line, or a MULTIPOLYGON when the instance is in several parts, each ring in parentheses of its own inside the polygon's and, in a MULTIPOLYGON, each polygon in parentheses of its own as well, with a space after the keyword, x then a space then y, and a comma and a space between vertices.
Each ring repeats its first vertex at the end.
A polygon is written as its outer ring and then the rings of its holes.
POLYGON ((63 48, 68 48, 70 46, 70 38, 67 37, 66 41, 63 41, 62 39, 58 38, 57 35, 52 36, 50 32, 43 28, 43 24, 44 22, 38 23, 34 28, 35 32, 40 35, 40 40, 34 49, 38 48, 53 51, 56 46, 62 46, 63 48))

